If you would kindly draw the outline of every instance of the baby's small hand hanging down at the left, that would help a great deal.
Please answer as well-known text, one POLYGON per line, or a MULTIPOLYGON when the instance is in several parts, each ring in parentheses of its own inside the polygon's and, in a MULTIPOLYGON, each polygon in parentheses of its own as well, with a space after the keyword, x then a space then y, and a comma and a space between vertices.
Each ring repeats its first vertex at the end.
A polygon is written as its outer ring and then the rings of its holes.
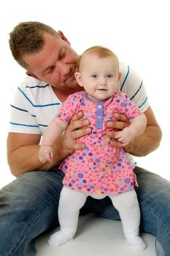
POLYGON ((53 161, 53 148, 51 146, 41 146, 39 149, 39 161, 45 164, 53 161))

